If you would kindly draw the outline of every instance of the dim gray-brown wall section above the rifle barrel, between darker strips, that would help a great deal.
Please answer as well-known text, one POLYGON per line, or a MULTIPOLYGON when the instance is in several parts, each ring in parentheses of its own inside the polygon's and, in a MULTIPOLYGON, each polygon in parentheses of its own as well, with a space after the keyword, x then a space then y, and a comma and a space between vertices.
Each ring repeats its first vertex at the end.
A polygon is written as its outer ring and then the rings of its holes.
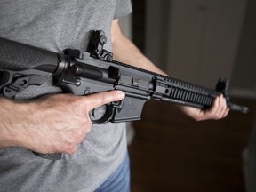
MULTIPOLYGON (((219 77, 233 80, 246 0, 146 2, 146 54, 151 60, 171 76, 207 87, 213 88, 219 77)), ((239 86, 242 90, 244 85, 239 86)), ((249 89, 255 92, 254 86, 249 89)))

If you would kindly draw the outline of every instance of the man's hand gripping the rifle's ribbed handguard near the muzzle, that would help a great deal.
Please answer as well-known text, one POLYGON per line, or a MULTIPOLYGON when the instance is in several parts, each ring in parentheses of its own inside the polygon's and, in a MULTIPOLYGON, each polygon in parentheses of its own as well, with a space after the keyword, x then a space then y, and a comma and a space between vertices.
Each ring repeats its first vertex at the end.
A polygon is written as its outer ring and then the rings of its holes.
POLYGON ((198 108, 185 106, 180 107, 180 109, 187 116, 190 116, 196 121, 203 121, 208 119, 219 120, 221 118, 226 117, 229 111, 229 109, 227 108, 226 100, 222 94, 215 98, 212 107, 207 110, 201 110, 198 108))

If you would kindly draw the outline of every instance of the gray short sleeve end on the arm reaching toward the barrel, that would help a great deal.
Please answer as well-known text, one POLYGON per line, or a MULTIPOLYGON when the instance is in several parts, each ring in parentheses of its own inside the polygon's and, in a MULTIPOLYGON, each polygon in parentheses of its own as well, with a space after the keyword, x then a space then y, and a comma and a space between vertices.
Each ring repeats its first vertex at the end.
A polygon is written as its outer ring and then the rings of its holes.
POLYGON ((114 19, 121 18, 132 12, 131 0, 116 0, 116 12, 114 19))

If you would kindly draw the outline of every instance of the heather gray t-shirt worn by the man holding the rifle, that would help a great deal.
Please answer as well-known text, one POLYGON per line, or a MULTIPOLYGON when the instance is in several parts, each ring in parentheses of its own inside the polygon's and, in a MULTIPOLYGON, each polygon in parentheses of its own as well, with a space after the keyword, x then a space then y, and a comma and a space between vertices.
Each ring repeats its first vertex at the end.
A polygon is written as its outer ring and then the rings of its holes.
MULTIPOLYGON (((110 24, 132 12, 130 0, 0 0, 0 36, 53 52, 86 50, 91 30, 104 30, 111 51, 110 24)), ((21 92, 20 99, 48 92, 49 86, 21 92)), ((29 113, 29 111, 28 111, 29 113)), ((0 191, 93 191, 114 172, 126 152, 124 124, 93 125, 74 155, 60 161, 26 148, 0 148, 0 191)))

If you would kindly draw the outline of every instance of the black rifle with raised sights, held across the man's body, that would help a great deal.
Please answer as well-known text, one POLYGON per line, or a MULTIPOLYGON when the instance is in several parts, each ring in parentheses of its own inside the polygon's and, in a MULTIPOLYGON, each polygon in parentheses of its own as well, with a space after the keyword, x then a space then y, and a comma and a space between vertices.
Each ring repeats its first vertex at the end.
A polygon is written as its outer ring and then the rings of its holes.
MULTIPOLYGON (((248 108, 229 101, 225 79, 220 79, 216 90, 212 90, 162 76, 113 60, 112 53, 103 49, 107 42, 103 31, 93 31, 91 40, 90 53, 66 49, 64 54, 58 54, 0 38, 0 95, 15 98, 28 86, 39 86, 53 76, 53 85, 75 95, 110 90, 125 92, 125 99, 106 105, 105 114, 99 119, 91 116, 93 124, 140 120, 144 103, 150 99, 207 109, 220 93, 228 108, 248 112, 248 108)), ((60 158, 59 154, 55 155, 40 156, 60 158)))

